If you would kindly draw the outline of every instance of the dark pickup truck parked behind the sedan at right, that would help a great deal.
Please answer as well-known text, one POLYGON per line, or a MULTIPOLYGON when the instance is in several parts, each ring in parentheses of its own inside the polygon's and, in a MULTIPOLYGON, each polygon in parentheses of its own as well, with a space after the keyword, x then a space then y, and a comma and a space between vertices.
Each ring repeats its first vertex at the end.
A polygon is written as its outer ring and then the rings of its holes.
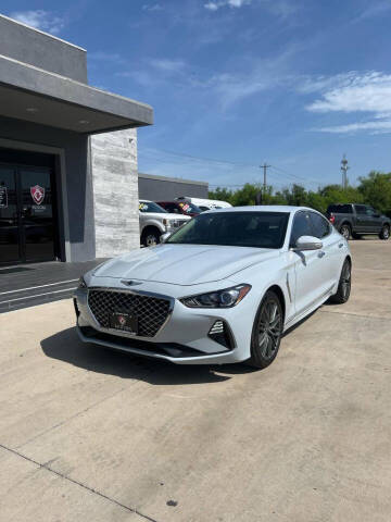
POLYGON ((380 239, 390 237, 390 217, 367 204, 329 204, 326 215, 345 239, 358 239, 364 234, 376 234, 380 239))

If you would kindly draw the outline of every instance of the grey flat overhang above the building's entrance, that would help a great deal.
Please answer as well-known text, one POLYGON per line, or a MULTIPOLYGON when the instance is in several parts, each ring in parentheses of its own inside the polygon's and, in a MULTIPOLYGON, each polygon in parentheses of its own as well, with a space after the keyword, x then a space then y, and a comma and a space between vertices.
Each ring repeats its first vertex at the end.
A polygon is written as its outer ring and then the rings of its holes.
POLYGON ((0 115, 79 134, 153 124, 153 109, 0 54, 0 115))

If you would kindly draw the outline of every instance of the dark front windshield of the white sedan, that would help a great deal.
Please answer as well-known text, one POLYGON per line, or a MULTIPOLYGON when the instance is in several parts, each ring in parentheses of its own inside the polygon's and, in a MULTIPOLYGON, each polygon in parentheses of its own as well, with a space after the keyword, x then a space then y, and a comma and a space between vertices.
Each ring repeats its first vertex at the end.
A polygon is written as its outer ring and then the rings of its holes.
POLYGON ((289 213, 211 212, 200 214, 175 232, 166 243, 281 248, 289 213))

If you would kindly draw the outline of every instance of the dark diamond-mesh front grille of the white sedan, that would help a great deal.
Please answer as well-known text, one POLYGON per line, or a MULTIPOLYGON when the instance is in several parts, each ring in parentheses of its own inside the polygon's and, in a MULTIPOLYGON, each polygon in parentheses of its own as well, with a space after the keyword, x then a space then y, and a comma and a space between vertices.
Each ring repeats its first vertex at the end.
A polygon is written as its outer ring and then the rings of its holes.
POLYGON ((104 328, 110 327, 109 316, 112 312, 130 311, 138 319, 140 337, 154 337, 171 310, 168 299, 115 290, 89 290, 88 306, 104 328))

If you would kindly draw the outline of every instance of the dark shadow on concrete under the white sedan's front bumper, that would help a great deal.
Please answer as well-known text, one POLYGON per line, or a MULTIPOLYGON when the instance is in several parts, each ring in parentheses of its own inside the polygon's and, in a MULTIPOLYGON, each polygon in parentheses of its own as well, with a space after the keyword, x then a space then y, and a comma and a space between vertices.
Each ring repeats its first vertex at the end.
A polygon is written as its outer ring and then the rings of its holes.
POLYGON ((177 365, 166 361, 135 357, 102 346, 81 343, 76 327, 58 332, 42 339, 41 348, 47 357, 90 372, 116 375, 122 378, 136 378, 154 385, 218 383, 231 378, 219 372, 235 375, 253 371, 242 364, 177 365), (227 369, 227 366, 229 368, 227 369))

